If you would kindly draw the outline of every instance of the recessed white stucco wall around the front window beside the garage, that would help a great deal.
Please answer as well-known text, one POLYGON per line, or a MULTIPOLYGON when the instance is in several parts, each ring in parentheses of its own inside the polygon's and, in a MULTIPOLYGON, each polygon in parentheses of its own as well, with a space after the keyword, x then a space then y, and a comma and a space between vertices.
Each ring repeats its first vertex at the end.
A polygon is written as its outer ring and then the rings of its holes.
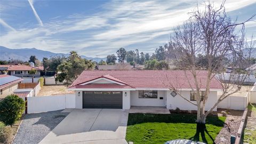
POLYGON ((165 107, 165 95, 165 91, 157 91, 157 99, 139 98, 139 91, 131 91, 131 106, 165 107), (163 97, 163 99, 161 100, 159 97, 163 97))

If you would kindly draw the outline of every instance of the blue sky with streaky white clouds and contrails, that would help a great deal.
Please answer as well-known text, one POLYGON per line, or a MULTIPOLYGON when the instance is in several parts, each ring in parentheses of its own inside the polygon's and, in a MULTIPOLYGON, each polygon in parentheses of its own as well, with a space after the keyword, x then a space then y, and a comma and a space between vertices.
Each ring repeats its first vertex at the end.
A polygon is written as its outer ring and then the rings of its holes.
MULTIPOLYGON (((119 47, 152 53, 169 41, 173 27, 204 1, 0 1, 0 45, 35 47, 57 53, 77 51, 106 57, 119 47)), ((222 1, 214 1, 219 5, 222 1)), ((256 0, 227 0, 228 14, 249 18, 256 0)), ((256 19, 246 24, 256 34, 256 19)))

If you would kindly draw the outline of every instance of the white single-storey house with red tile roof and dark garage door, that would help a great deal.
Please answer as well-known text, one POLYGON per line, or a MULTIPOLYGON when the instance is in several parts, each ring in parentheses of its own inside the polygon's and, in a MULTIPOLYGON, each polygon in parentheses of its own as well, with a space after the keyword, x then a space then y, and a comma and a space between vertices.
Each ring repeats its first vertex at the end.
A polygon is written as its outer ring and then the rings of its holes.
MULTIPOLYGON (((198 71, 201 95, 204 95, 207 71, 198 71)), ((131 106, 155 106, 167 109, 196 110, 172 87, 190 101, 195 101, 191 87, 193 76, 182 70, 85 70, 68 88, 76 93, 76 108, 122 108, 131 106)), ((220 82, 213 78, 210 84, 206 110, 217 102, 220 82)), ((217 110, 215 108, 214 110, 217 110)))

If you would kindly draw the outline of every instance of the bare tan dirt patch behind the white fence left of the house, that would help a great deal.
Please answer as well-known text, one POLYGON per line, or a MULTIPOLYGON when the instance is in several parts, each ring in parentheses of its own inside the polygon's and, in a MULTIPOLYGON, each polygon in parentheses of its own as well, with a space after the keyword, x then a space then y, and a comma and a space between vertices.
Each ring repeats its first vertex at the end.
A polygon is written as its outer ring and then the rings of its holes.
POLYGON ((74 94, 75 91, 68 91, 66 85, 45 85, 40 90, 38 96, 74 94))

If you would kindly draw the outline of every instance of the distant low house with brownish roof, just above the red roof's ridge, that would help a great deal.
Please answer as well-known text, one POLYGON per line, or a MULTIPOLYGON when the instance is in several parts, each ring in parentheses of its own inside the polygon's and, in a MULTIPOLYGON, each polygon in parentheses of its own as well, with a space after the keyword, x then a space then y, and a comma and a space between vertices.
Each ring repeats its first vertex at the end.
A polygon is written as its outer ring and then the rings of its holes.
POLYGON ((97 65, 97 70, 131 70, 131 69, 143 69, 143 65, 131 66, 130 63, 116 63, 116 65, 97 65))

